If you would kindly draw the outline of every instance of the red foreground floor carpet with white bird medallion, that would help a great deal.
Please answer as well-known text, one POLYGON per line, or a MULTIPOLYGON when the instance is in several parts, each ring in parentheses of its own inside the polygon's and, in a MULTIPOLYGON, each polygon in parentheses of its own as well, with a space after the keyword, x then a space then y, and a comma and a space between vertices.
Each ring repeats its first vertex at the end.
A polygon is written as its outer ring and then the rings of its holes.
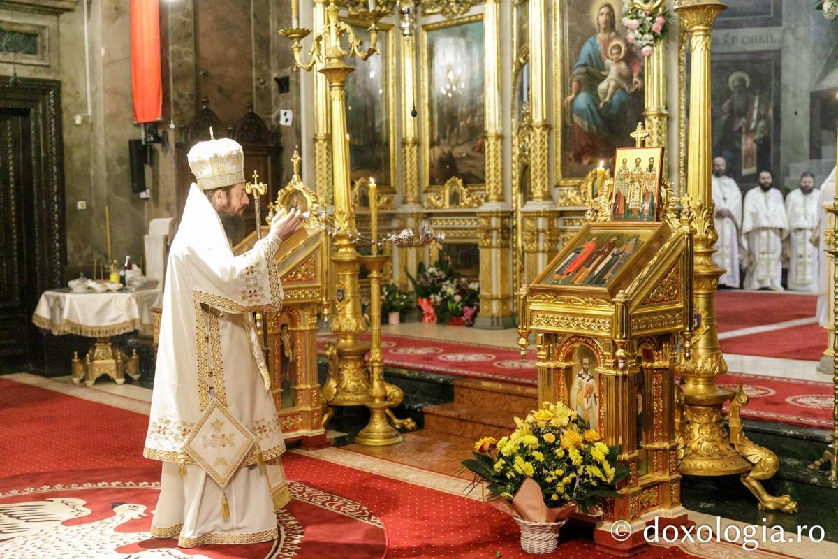
MULTIPOLYGON (((178 550, 173 547, 173 541, 147 537, 148 513, 158 492, 158 468, 129 468, 124 464, 104 470, 76 468, 90 458, 87 455, 104 452, 101 449, 107 448, 107 439, 117 433, 122 433, 125 440, 142 441, 145 426, 137 422, 137 414, 110 408, 107 411, 110 431, 85 431, 84 427, 99 420, 101 416, 97 414, 108 406, 59 394, 48 398, 39 394, 44 392, 42 389, 15 384, 3 380, 0 386, 3 411, 17 411, 19 420, 26 413, 28 402, 38 401, 42 417, 63 423, 66 432, 64 437, 39 439, 32 434, 42 427, 33 421, 4 423, 0 452, 7 468, 21 474, 0 479, 0 505, 27 503, 29 507, 49 510, 57 519, 24 528, 17 536, 0 541, 0 556, 4 558, 38 556, 36 550, 49 546, 52 556, 67 557, 115 556, 118 551, 132 553, 136 559, 196 555, 213 559, 268 556, 362 559, 383 556, 388 543, 386 556, 394 558, 483 559, 497 553, 507 559, 525 556, 518 546, 515 523, 488 505, 295 453, 285 457, 294 501, 287 508, 288 514, 279 518, 286 534, 282 550, 273 550, 270 543, 178 550), (44 449, 45 442, 49 445, 48 452, 44 449), (13 444, 28 446, 28 456, 15 453, 13 460, 7 460, 5 451, 13 444), (91 448, 98 450, 94 452, 91 448), (64 468, 53 473, 40 470, 31 458, 46 453, 67 457, 64 468), (30 473, 33 471, 38 473, 30 473), (332 497, 333 503, 341 505, 324 507, 323 499, 316 497, 324 493, 332 497), (385 540, 384 530, 375 528, 380 525, 376 517, 387 526, 389 542, 385 540)), ((138 444, 130 453, 138 455, 141 449, 142 444, 138 444)), ((111 455, 98 458, 102 463, 114 464, 123 459, 111 455)), ((586 535, 571 528, 562 531, 562 538, 559 549, 545 557, 610 557, 597 552, 586 535)), ((653 546, 638 557, 687 559, 691 555, 675 547, 653 546)))

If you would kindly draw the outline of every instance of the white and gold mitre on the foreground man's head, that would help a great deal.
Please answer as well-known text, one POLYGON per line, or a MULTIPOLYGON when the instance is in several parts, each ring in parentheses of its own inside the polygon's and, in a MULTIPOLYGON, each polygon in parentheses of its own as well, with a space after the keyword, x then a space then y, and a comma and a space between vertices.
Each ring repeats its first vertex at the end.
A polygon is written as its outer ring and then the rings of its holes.
POLYGON ((198 142, 186 158, 201 190, 245 182, 245 153, 239 142, 228 137, 198 142))

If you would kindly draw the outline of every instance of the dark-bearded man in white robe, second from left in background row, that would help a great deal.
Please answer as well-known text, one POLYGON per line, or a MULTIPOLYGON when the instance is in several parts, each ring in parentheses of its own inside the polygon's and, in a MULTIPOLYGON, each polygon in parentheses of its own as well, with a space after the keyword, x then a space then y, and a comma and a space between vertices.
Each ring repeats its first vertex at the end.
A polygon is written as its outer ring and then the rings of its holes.
POLYGON ((759 186, 745 194, 742 245, 747 247, 745 289, 784 291, 783 239, 789 234, 783 194, 771 186, 770 171, 759 173, 759 186))

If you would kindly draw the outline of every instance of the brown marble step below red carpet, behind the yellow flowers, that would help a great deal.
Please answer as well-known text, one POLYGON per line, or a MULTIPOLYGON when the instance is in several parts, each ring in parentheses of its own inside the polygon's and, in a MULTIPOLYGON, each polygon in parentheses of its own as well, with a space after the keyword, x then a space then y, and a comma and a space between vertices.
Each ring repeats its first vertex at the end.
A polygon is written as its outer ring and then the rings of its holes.
POLYGON ((422 409, 425 429, 476 441, 480 437, 500 438, 515 430, 515 413, 496 407, 448 402, 422 409))

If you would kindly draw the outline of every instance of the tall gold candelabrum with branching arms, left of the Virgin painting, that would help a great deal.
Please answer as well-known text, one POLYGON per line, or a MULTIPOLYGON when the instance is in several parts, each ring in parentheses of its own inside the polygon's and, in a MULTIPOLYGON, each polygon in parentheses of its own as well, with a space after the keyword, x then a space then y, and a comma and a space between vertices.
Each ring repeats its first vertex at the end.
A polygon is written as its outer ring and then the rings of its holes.
MULTIPOLYGON (((293 0, 292 8, 297 1, 293 0)), ((295 10, 296 12, 296 10, 295 10)), ((310 29, 283 28, 280 34, 292 40, 295 66, 311 71, 315 65, 318 72, 326 76, 329 89, 331 138, 332 138, 332 184, 334 189, 334 221, 338 226, 334 236, 332 262, 335 268, 334 318, 332 332, 338 335, 337 357, 339 365, 337 393, 331 406, 363 406, 370 399, 369 381, 366 378, 364 355, 370 344, 361 341, 360 334, 367 326, 361 313, 358 274, 360 255, 355 250, 353 237, 355 229, 354 210, 349 184, 349 141, 346 134, 346 79, 354 68, 346 63, 345 57, 367 60, 375 54, 378 42, 378 28, 375 23, 385 15, 384 11, 362 11, 356 18, 370 23, 370 47, 363 48, 362 42, 348 24, 339 20, 339 8, 332 0, 326 8, 323 31, 313 37, 309 51, 311 60, 303 62, 302 39, 311 33, 310 29), (344 48, 344 43, 348 46, 344 48)), ((295 23, 296 23, 296 19, 295 23)))

